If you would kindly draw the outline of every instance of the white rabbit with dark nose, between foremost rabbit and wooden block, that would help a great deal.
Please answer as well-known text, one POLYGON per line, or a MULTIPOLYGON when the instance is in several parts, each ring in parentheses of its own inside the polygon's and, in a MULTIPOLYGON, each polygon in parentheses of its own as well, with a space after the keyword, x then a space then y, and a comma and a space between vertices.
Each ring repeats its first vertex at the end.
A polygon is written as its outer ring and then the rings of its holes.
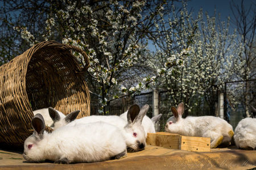
MULTIPOLYGON (((69 120, 67 117, 74 119, 76 117, 72 114, 67 115, 65 119, 55 121, 54 128, 61 126, 76 126, 85 123, 92 122, 106 122, 111 125, 117 126, 121 130, 123 136, 125 136, 126 146, 128 151, 140 151, 146 146, 146 133, 142 127, 142 119, 146 115, 148 105, 144 105, 142 109, 139 109, 138 105, 133 105, 127 111, 128 122, 117 115, 92 115, 89 117, 83 117, 76 119, 75 121, 69 120), (72 121, 72 122, 71 122, 72 121), (70 123, 69 123, 70 122, 70 123)), ((56 113, 57 114, 57 113, 56 113)))

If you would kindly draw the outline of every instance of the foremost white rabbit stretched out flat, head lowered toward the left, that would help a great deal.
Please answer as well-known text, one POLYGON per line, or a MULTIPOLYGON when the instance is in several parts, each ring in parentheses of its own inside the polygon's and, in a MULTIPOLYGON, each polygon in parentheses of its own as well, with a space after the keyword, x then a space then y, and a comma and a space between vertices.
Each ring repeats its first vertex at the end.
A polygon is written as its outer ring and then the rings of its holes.
POLYGON ((68 164, 120 159, 127 155, 123 135, 109 123, 67 126, 47 133, 42 115, 36 114, 32 126, 34 134, 24 142, 23 157, 27 161, 68 164))

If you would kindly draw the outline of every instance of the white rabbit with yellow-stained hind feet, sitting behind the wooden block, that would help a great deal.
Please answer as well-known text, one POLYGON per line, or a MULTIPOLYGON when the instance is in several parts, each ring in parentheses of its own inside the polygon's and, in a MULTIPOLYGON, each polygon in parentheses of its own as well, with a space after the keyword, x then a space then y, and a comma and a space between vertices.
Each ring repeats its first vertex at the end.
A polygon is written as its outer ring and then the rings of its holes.
POLYGON ((210 147, 216 148, 221 143, 229 143, 234 135, 232 126, 224 119, 212 116, 182 118, 184 104, 177 109, 171 107, 173 117, 167 120, 165 130, 184 136, 201 136, 210 138, 210 147))

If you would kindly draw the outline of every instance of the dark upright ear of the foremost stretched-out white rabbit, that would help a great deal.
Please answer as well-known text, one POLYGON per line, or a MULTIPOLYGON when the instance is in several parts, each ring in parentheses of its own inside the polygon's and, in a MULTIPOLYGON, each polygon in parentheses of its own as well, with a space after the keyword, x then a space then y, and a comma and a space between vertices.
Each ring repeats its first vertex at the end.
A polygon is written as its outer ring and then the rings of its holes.
POLYGON ((44 123, 44 118, 41 114, 38 113, 34 116, 32 119, 32 126, 38 135, 43 134, 44 130, 46 129, 46 124, 44 123))

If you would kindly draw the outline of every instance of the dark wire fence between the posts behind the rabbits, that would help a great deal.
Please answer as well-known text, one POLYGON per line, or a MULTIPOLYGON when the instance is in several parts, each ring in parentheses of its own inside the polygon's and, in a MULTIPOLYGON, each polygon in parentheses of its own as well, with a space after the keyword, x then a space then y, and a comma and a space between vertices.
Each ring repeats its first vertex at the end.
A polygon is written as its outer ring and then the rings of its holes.
MULTIPOLYGON (((256 106, 256 80, 250 81, 249 89, 245 89, 245 82, 232 82, 228 83, 226 86, 226 91, 221 92, 213 87, 208 94, 209 96, 196 95, 192 101, 197 101, 200 104, 193 106, 188 115, 192 116, 204 116, 212 115, 219 116, 218 110, 220 110, 220 94, 224 93, 224 118, 235 128, 237 123, 246 117, 246 108, 249 114, 252 113, 252 109, 249 106, 256 106), (240 89, 240 90, 238 90, 240 89), (247 92, 247 99, 245 98, 245 92, 247 92), (225 102, 229 101, 229 102, 225 102), (247 102, 247 106, 246 106, 247 102), (232 107, 230 107, 230 105, 232 107), (230 109, 231 108, 231 109, 230 109)), ((158 113, 163 114, 162 118, 159 120, 159 131, 164 131, 164 126, 167 119, 172 116, 171 106, 174 106, 173 99, 171 95, 166 91, 158 92, 158 113)), ((150 109, 148 109, 147 116, 152 118, 153 114, 153 92, 142 93, 135 96, 126 96, 122 98, 115 99, 108 103, 106 110, 109 115, 120 115, 129 109, 129 106, 137 104, 140 107, 148 104, 150 109)), ((98 104, 98 98, 96 96, 91 96, 91 115, 97 115, 100 112, 100 105, 98 104)), ((222 105, 223 107, 223 105, 222 105)), ((185 115, 184 117, 186 117, 185 115)))

